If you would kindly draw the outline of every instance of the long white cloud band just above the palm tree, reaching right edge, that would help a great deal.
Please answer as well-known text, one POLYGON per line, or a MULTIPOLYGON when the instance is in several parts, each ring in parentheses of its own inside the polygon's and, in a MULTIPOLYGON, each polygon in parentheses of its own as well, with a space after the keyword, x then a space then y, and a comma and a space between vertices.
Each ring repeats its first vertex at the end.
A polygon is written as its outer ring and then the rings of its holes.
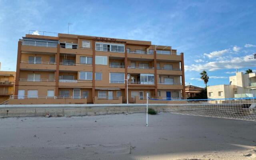
POLYGON ((244 57, 232 57, 226 60, 213 61, 205 64, 192 64, 191 66, 184 66, 185 70, 188 71, 214 71, 221 69, 235 69, 235 68, 249 68, 255 67, 256 59, 249 59, 251 55, 247 55, 244 57))

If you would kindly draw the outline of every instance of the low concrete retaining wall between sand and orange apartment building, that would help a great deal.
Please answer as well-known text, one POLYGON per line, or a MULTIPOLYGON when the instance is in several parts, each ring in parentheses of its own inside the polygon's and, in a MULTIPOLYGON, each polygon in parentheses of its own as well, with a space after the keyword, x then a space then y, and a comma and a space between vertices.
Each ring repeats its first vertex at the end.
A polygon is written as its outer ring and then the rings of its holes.
MULTIPOLYGON (((149 104, 158 112, 166 109, 166 104, 149 104)), ((28 104, 28 105, 2 105, 0 118, 22 116, 82 116, 117 113, 146 112, 145 104, 28 104)))

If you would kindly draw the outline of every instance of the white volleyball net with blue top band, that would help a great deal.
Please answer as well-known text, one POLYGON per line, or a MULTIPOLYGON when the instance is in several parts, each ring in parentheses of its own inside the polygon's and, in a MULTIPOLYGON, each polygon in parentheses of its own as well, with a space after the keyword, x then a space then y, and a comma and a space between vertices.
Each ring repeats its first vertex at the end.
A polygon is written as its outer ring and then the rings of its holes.
POLYGON ((256 97, 214 100, 168 100, 167 111, 175 114, 256 121, 256 97))

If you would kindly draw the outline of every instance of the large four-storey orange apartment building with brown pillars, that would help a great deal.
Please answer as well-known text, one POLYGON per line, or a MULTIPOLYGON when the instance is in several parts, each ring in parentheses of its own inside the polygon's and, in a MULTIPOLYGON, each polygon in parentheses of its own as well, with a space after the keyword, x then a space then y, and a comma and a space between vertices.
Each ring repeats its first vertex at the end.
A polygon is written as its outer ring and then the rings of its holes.
POLYGON ((126 103, 127 90, 129 103, 147 93, 181 98, 184 58, 150 41, 26 34, 18 42, 15 87, 10 104, 126 103))

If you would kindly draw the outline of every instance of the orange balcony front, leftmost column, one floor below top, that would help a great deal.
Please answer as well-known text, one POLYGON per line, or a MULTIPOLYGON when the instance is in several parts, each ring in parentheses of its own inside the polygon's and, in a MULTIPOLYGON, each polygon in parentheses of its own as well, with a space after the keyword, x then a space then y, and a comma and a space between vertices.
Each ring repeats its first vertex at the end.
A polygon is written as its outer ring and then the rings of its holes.
POLYGON ((20 61, 20 69, 56 70, 56 62, 20 61))

